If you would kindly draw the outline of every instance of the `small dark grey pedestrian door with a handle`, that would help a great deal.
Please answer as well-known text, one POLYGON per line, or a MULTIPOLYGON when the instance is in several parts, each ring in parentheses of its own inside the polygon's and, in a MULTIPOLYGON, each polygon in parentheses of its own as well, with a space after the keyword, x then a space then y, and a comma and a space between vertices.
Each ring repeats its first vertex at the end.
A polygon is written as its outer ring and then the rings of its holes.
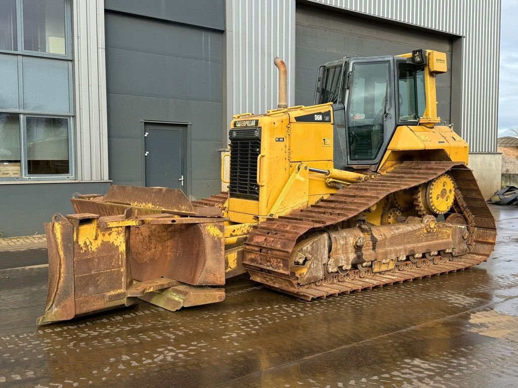
POLYGON ((186 191, 185 126, 146 124, 144 161, 147 187, 186 191))

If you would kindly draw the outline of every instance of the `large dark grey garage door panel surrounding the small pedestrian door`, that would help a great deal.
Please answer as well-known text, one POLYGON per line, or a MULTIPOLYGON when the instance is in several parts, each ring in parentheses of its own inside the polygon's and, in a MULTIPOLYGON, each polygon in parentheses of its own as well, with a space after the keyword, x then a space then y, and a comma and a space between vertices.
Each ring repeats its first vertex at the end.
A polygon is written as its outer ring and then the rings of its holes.
MULTIPOLYGON (((217 181, 225 131, 222 34, 120 13, 105 17, 110 178, 142 182, 142 122, 161 121, 190 123, 190 138, 206 144, 193 151, 193 162, 202 164, 189 181, 217 181)), ((204 186, 193 186, 195 198, 211 194, 196 187, 204 186)))

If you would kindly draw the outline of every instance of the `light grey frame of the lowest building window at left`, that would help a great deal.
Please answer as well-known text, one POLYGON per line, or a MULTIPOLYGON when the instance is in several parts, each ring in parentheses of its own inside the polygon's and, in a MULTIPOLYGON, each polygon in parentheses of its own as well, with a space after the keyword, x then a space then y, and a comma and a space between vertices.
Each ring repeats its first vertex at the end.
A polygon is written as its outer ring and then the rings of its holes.
POLYGON ((32 182, 32 181, 73 181, 76 179, 76 155, 75 155, 75 131, 74 116, 70 114, 55 113, 20 113, 13 111, 0 111, 0 113, 18 114, 20 117, 20 172, 19 177, 0 177, 0 183, 32 182), (68 122, 68 174, 28 174, 27 163, 27 117, 64 118, 68 122))

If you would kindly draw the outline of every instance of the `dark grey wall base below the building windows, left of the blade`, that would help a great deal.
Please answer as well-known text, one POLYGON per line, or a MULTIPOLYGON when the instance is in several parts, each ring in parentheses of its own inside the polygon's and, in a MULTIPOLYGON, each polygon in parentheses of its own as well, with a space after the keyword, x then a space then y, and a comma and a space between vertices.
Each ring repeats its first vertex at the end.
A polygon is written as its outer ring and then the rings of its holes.
POLYGON ((43 234, 44 222, 54 213, 74 213, 70 204, 74 192, 104 195, 109 186, 107 182, 0 185, 0 230, 4 237, 43 234))

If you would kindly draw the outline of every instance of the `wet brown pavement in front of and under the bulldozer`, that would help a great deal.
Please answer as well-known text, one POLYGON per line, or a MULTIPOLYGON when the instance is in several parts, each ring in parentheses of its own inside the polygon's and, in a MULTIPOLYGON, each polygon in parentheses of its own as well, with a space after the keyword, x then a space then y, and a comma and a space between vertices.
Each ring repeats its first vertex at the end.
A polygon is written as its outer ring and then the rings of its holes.
POLYGON ((487 263, 312 302, 241 277, 220 304, 38 329, 47 267, 0 270, 0 388, 516 387, 518 209, 492 211, 487 263))

